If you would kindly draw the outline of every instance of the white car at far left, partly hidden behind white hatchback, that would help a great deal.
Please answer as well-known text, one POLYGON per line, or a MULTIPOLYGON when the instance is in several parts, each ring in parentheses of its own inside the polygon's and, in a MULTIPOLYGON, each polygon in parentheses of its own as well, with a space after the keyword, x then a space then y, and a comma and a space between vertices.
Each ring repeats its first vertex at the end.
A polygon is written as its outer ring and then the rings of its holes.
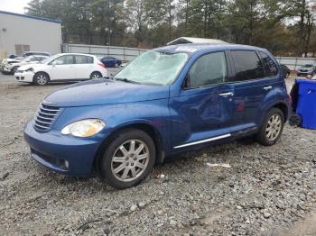
POLYGON ((27 64, 31 64, 31 63, 39 63, 41 62, 43 59, 47 59, 47 56, 42 56, 42 55, 33 55, 33 56, 28 56, 24 59, 7 59, 5 61, 5 63, 3 63, 3 68, 2 70, 5 73, 15 73, 17 68, 23 66, 23 65, 27 65, 27 64))

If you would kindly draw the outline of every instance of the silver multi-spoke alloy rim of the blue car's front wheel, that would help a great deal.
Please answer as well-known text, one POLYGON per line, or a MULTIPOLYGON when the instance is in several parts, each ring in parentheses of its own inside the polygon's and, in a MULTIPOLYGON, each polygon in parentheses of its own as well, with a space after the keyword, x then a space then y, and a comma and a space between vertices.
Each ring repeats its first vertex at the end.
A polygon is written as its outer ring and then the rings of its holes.
POLYGON ((130 182, 142 176, 149 163, 149 149, 144 141, 125 141, 115 151, 111 170, 116 179, 130 182))

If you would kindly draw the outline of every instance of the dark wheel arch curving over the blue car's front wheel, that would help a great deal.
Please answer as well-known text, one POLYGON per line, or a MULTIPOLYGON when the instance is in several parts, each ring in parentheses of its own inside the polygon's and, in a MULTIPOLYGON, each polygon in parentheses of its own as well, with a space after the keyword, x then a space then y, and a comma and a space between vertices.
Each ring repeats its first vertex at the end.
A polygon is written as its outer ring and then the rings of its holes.
POLYGON ((117 129, 114 129, 110 135, 107 136, 107 138, 102 141, 100 147, 98 148, 97 155, 93 161, 93 168, 99 175, 99 167, 100 167, 100 160, 102 158, 102 154, 106 150, 107 145, 113 141, 116 138, 116 134, 118 132, 123 132, 125 130, 129 129, 135 129, 135 130, 140 130, 143 132, 146 132, 152 139, 153 143, 156 147, 156 163, 162 163, 164 159, 164 147, 163 147, 163 138, 162 134, 155 128, 153 125, 148 124, 148 123, 128 123, 125 125, 122 125, 118 127, 117 129))

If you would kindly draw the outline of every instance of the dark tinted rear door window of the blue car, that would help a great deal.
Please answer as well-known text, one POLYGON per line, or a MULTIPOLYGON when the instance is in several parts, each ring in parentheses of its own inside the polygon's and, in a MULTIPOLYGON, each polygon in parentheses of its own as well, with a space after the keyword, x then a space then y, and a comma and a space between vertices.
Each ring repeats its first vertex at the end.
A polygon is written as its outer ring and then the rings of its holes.
POLYGON ((265 77, 264 68, 256 51, 254 50, 232 50, 236 77, 235 81, 244 81, 265 77))

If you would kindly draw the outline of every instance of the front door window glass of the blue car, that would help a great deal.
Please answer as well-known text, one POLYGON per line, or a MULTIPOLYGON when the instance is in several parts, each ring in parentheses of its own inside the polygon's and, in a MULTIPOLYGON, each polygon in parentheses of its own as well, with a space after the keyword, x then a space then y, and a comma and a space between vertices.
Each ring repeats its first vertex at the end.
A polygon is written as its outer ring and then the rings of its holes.
POLYGON ((188 73, 187 88, 212 86, 227 81, 228 67, 223 51, 209 53, 197 59, 188 73))

